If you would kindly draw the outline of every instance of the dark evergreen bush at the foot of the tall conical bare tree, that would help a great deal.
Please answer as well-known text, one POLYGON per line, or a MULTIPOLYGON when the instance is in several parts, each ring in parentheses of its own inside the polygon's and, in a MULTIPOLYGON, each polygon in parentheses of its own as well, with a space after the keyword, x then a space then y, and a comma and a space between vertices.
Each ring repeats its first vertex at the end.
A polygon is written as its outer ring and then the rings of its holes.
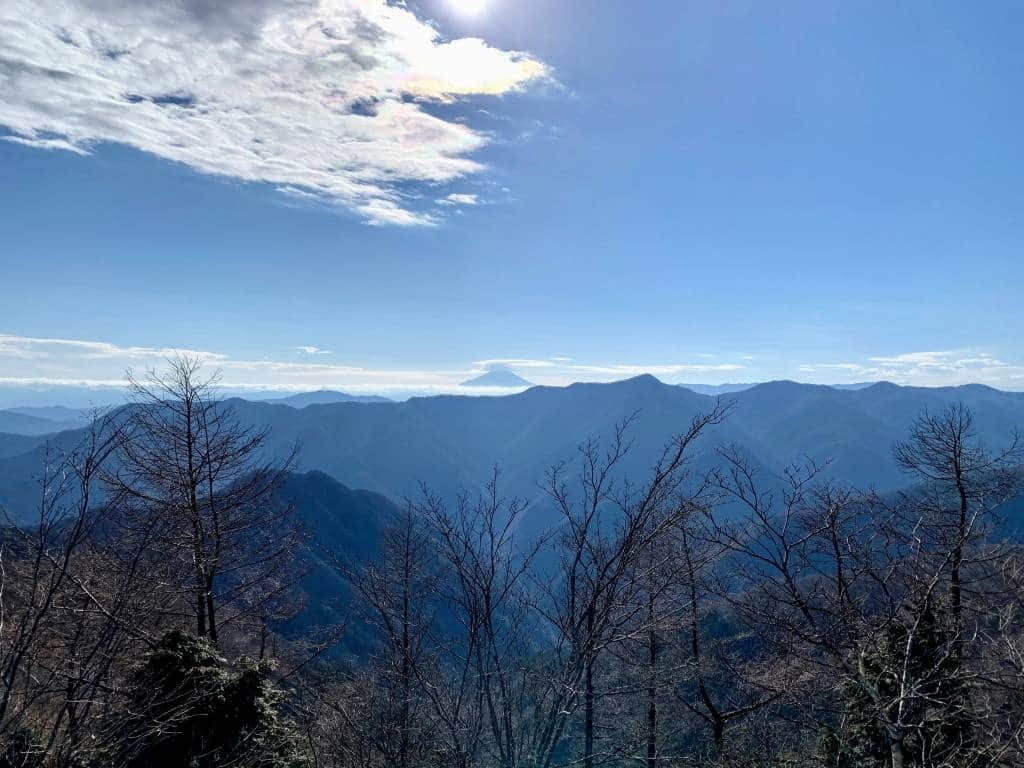
POLYGON ((164 636, 131 679, 120 739, 131 768, 299 768, 298 739, 280 715, 267 662, 230 665, 204 639, 164 636))

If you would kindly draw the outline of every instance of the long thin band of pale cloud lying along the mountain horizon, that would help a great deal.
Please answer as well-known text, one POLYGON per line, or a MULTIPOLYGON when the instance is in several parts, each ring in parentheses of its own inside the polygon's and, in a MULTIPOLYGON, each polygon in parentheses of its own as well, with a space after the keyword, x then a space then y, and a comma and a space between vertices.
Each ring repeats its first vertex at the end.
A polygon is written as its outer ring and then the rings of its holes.
MULTIPOLYGON (((667 382, 684 377, 728 381, 737 371, 743 380, 759 372, 743 361, 663 361, 649 364, 590 362, 558 357, 492 357, 446 368, 374 368, 334 361, 329 349, 314 345, 294 348, 287 359, 246 359, 220 351, 174 346, 123 345, 106 341, 28 337, 0 334, 0 384, 118 386, 128 369, 160 368, 174 354, 201 357, 222 372, 224 386, 233 389, 348 389, 355 392, 461 392, 461 382, 495 369, 512 369, 537 384, 615 381, 653 374, 667 382)), ((741 358, 736 358, 740 359, 741 358)), ((860 360, 806 362, 767 378, 797 378, 827 384, 888 380, 897 384, 948 386, 981 383, 1004 389, 1024 389, 1024 365, 983 349, 965 348, 872 355, 860 360)), ((763 377, 764 378, 764 377, 763 377)), ((480 390, 473 390, 480 393, 480 390)))

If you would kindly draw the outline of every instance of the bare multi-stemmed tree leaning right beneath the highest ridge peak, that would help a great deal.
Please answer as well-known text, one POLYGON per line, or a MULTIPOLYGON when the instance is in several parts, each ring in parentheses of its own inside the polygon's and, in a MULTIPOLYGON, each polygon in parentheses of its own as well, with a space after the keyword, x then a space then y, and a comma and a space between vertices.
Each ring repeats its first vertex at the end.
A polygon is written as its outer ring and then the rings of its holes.
POLYGON ((565 480, 566 465, 554 467, 545 485, 559 511, 556 537, 558 569, 541 583, 537 606, 556 637, 557 674, 550 678, 534 733, 537 765, 549 766, 570 718, 583 710, 581 762, 593 768, 599 691, 597 664, 609 646, 635 626, 642 607, 633 599, 638 563, 652 542, 673 524, 677 497, 686 481, 693 443, 708 427, 720 423, 729 407, 717 403, 697 416, 663 450, 651 476, 639 486, 615 474, 627 455, 632 419, 620 424, 605 451, 595 441, 580 449, 581 471, 574 487, 565 480), (618 481, 618 484, 616 484, 618 481), (629 629, 628 629, 629 628, 629 629))

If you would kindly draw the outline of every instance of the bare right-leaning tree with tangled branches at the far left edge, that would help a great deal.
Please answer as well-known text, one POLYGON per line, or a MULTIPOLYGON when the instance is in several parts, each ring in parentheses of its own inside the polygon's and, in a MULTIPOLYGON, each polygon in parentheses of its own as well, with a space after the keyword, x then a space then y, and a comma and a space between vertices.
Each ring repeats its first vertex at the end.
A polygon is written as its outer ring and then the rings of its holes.
POLYGON ((142 552, 112 541, 99 479, 120 435, 94 416, 73 450, 47 450, 37 516, 8 517, 0 550, 0 742, 31 732, 23 753, 58 763, 96 746, 160 601, 140 579, 142 552))

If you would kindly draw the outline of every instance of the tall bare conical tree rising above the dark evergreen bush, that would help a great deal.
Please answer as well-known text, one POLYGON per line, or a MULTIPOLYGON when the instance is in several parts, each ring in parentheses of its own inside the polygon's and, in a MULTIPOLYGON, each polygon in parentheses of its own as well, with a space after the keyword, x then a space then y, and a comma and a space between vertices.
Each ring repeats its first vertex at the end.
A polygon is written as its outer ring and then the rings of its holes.
POLYGON ((264 458, 267 430, 243 425, 218 376, 177 356, 163 373, 129 374, 117 464, 104 479, 125 520, 160 531, 167 575, 191 603, 200 637, 259 616, 296 581, 301 530, 274 492, 292 465, 264 458))

